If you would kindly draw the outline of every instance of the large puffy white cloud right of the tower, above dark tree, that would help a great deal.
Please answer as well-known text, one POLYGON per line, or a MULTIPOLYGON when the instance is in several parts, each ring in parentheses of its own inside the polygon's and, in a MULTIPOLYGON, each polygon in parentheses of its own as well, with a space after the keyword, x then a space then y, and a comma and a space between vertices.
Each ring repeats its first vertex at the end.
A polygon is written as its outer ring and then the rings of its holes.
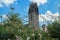
POLYGON ((39 22, 46 23, 47 21, 53 22, 55 20, 58 20, 58 12, 52 13, 51 11, 47 11, 45 14, 39 15, 39 22))

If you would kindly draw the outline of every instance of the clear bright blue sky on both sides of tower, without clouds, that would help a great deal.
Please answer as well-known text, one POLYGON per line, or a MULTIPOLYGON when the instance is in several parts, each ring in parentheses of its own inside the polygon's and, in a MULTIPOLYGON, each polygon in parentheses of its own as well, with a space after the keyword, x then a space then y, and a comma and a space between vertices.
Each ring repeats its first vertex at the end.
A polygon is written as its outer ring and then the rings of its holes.
MULTIPOLYGON (((27 15, 27 7, 29 7, 30 2, 30 0, 17 0, 15 3, 10 3, 8 6, 6 6, 6 4, 2 4, 3 7, 0 7, 0 14, 8 13, 10 11, 10 6, 12 6, 15 8, 15 12, 18 12, 21 15, 27 15)), ((60 0, 47 0, 45 4, 40 4, 38 6, 39 13, 44 14, 48 10, 50 10, 52 13, 56 13, 58 5, 60 5, 60 0)))

